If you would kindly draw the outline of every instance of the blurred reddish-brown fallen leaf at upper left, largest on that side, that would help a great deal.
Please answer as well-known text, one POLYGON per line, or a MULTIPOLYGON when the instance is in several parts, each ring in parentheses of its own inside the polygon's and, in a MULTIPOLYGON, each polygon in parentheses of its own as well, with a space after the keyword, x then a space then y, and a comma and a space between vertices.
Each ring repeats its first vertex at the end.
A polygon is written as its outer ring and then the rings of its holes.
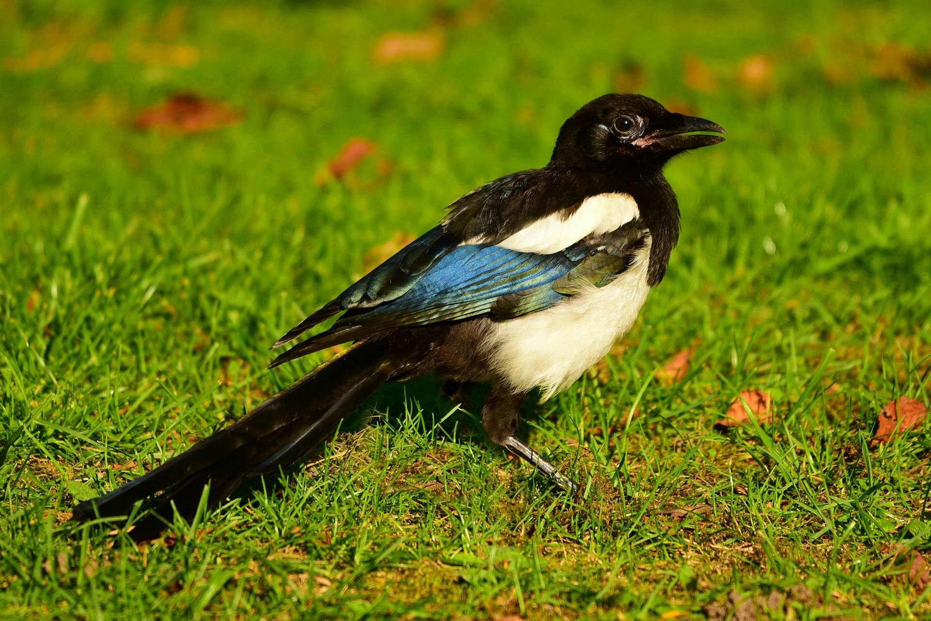
POLYGON ((161 129, 169 133, 195 134, 235 125, 240 113, 220 101, 209 101, 194 93, 176 93, 168 100, 142 111, 137 129, 161 129))

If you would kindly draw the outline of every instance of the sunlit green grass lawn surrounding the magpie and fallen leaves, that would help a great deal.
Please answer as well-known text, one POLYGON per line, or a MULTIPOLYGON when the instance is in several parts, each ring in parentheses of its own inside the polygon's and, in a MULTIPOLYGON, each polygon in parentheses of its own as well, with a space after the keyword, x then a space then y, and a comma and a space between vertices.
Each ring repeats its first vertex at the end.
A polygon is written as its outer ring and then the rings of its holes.
POLYGON ((931 547, 927 426, 870 448, 931 398, 926 7, 570 4, 0 3, 0 614, 928 618, 889 551, 931 547), (372 61, 431 27, 439 58, 372 61), (66 521, 310 369, 268 344, 616 88, 729 138, 668 169, 681 244, 638 326, 528 408, 580 497, 424 380, 164 541, 66 521), (243 119, 131 127, 179 90, 243 119), (391 174, 318 186, 353 137, 391 174), (716 428, 751 388, 775 422, 716 428))

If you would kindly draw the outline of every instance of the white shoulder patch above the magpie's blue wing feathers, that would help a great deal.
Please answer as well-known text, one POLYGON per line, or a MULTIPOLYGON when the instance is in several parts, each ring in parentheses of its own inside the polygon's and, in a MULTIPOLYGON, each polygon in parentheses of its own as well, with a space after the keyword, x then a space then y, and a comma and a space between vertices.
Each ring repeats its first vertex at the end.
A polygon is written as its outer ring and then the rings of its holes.
MULTIPOLYGON (((519 230, 498 246, 519 252, 552 254, 589 235, 614 231, 631 220, 640 217, 637 201, 628 194, 600 194, 589 196, 579 209, 566 216, 557 211, 519 230)), ((466 244, 482 243, 480 239, 469 239, 466 244)))

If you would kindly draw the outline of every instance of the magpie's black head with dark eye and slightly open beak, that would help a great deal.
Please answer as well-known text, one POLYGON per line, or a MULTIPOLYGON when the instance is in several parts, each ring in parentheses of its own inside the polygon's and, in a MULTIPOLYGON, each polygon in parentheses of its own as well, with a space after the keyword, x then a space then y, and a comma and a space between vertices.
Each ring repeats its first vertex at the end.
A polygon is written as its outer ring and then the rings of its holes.
POLYGON ((569 117, 551 166, 612 172, 662 166, 674 155, 724 141, 708 119, 669 112, 642 95, 602 95, 569 117))

